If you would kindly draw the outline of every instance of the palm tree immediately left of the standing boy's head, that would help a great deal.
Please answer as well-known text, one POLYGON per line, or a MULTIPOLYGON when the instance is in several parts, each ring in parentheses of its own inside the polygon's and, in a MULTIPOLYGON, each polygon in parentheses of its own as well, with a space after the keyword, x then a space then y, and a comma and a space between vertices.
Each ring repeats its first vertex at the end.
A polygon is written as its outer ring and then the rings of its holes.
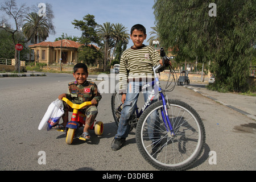
POLYGON ((113 26, 114 26, 113 38, 115 39, 115 47, 114 47, 114 51, 113 51, 113 54, 112 54, 112 58, 110 59, 110 65, 111 65, 111 61, 113 60, 115 48, 117 47, 118 42, 119 41, 128 42, 128 39, 129 39, 129 34, 126 33, 126 31, 127 31, 126 27, 124 27, 120 23, 116 23, 113 26))

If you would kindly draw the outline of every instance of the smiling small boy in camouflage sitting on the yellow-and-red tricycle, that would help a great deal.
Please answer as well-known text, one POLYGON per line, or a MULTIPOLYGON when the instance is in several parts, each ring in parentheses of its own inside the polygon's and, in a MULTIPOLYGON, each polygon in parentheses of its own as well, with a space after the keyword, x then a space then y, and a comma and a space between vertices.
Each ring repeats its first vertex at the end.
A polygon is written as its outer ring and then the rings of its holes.
MULTIPOLYGON (((72 101, 75 104, 82 104, 86 101, 91 101, 92 105, 86 106, 84 109, 80 111, 86 115, 84 133, 82 133, 82 137, 87 140, 90 139, 90 135, 88 133, 89 127, 93 124, 94 119, 98 114, 97 105, 101 100, 101 94, 98 92, 97 85, 92 81, 87 81, 88 77, 88 68, 84 63, 78 63, 74 66, 73 76, 76 81, 69 82, 68 84, 68 92, 60 94, 58 97, 59 100, 62 100, 63 97, 68 98, 68 100, 72 101)), ((72 112, 73 109, 66 103, 64 104, 64 114, 63 114, 63 123, 55 126, 55 129, 65 128, 68 123, 68 112, 72 112)))

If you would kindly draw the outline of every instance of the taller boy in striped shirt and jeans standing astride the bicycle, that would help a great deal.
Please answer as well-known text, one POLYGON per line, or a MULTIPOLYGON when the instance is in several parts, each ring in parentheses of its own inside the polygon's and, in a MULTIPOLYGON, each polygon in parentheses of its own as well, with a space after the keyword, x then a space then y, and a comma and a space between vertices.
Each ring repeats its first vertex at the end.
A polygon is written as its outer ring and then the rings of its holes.
MULTIPOLYGON (((112 150, 119 150, 130 131, 129 118, 135 111, 139 87, 154 80, 152 67, 163 65, 159 53, 151 46, 145 46, 146 28, 141 24, 131 27, 130 38, 134 46, 122 53, 119 70, 119 94, 122 94, 123 109, 117 134, 112 142, 112 150)), ((146 102, 149 91, 143 93, 146 102)), ((155 100, 156 101, 156 100, 155 100)), ((154 103, 154 101, 153 101, 154 103)))

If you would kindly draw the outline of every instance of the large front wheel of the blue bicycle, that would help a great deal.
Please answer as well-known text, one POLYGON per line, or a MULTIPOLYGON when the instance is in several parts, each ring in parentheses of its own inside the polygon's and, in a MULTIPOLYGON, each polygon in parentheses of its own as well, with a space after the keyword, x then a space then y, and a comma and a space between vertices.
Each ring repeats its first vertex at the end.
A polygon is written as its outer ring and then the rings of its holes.
POLYGON ((161 110, 164 110, 163 101, 155 102, 139 118, 136 130, 139 151, 157 169, 187 169, 203 151, 203 122, 185 102, 168 100, 168 117, 175 134, 172 136, 166 129, 161 110))

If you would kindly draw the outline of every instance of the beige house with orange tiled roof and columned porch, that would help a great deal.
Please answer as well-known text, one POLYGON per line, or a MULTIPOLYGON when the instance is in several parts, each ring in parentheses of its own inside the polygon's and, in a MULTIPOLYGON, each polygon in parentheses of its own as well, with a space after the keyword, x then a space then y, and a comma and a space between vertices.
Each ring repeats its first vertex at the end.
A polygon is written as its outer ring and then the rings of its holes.
POLYGON ((51 65, 53 63, 59 63, 60 58, 64 64, 76 64, 77 50, 80 46, 80 43, 64 39, 56 42, 41 42, 28 47, 34 50, 35 61, 37 63, 51 65))

